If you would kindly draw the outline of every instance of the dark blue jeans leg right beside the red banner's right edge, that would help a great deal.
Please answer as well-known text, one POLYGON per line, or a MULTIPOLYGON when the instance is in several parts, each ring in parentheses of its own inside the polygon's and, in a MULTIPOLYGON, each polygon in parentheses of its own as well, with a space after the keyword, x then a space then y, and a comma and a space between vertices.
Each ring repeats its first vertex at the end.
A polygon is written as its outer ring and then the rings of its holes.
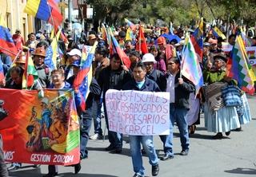
POLYGON ((92 108, 87 108, 82 112, 80 121, 80 155, 82 158, 88 157, 87 143, 89 140, 89 132, 92 124, 92 108))

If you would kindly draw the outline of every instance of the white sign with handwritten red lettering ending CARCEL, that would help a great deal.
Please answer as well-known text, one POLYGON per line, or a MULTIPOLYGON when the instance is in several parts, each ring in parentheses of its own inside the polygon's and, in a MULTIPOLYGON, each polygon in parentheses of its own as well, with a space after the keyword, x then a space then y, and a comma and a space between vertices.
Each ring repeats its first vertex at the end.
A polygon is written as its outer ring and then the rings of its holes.
POLYGON ((109 129, 125 135, 150 136, 170 133, 170 93, 106 92, 109 129))

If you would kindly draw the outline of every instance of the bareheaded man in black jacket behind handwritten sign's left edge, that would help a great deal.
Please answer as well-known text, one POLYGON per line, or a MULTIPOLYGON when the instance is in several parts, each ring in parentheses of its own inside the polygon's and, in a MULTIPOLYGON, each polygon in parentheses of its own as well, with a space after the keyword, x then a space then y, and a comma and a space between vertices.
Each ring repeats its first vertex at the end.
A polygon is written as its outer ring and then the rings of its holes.
MULTIPOLYGON (((125 71, 124 65, 121 65, 122 61, 118 54, 114 54, 110 58, 110 65, 99 73, 98 85, 101 87, 103 92, 103 105, 106 118, 106 128, 109 128, 108 118, 106 115, 106 103, 105 94, 108 89, 121 90, 122 86, 130 81, 130 73, 125 71)), ((115 153, 122 152, 122 135, 117 132, 108 131, 110 146, 106 148, 106 151, 112 151, 115 153)))

